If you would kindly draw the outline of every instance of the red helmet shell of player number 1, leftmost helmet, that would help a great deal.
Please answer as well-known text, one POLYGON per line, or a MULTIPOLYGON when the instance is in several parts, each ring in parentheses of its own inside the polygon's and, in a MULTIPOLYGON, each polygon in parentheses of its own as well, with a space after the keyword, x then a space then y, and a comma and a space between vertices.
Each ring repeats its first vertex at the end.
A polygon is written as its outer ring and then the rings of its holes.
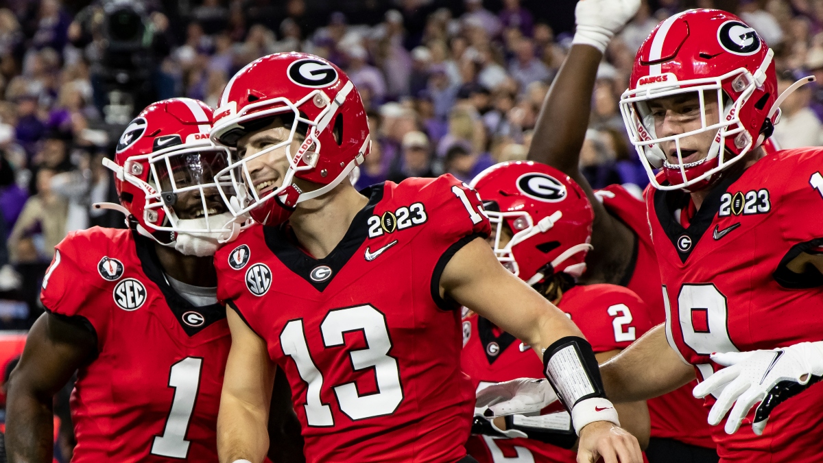
POLYGON ((114 162, 123 168, 123 175, 115 175, 114 186, 120 203, 162 243, 174 241, 176 236, 174 232, 156 230, 166 222, 162 207, 146 208, 161 203, 159 198, 148 198, 157 194, 151 185, 154 181, 149 157, 192 147, 212 147, 211 128, 212 109, 208 105, 190 98, 171 98, 142 110, 118 141, 114 162))

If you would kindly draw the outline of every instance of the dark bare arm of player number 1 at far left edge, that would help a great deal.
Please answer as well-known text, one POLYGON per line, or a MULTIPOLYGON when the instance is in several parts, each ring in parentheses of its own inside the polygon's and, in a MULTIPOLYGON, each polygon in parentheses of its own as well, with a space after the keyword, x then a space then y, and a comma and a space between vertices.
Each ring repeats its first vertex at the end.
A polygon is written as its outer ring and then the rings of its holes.
POLYGON ((52 461, 53 396, 96 352, 94 332, 77 320, 47 312, 35 321, 20 363, 8 381, 8 461, 52 461))

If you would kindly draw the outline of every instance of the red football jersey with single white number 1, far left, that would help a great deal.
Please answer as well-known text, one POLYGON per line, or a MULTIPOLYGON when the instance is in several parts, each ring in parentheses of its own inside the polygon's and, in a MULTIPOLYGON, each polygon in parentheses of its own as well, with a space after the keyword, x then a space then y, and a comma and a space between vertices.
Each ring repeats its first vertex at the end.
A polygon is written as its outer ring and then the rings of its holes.
POLYGON ((217 461, 226 310, 174 292, 154 241, 100 227, 69 233, 40 298, 97 336, 72 393, 73 462, 217 461))

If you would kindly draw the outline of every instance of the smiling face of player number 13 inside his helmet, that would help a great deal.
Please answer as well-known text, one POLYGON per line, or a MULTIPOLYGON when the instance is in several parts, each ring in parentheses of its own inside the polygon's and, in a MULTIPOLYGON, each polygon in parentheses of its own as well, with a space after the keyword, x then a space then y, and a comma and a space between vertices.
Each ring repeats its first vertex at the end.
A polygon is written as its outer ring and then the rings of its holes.
MULTIPOLYGON (((246 134, 237 142, 237 154, 241 158, 253 157, 253 155, 263 152, 273 146, 282 144, 289 139, 291 129, 284 124, 283 119, 275 118, 272 124, 263 129, 246 134)), ((251 175, 254 189, 258 197, 262 198, 270 191, 280 188, 283 178, 289 168, 289 160, 286 157, 286 146, 288 152, 292 154, 300 148, 304 136, 300 133, 300 128, 295 132, 291 143, 263 153, 258 157, 249 159, 246 163, 251 175)))

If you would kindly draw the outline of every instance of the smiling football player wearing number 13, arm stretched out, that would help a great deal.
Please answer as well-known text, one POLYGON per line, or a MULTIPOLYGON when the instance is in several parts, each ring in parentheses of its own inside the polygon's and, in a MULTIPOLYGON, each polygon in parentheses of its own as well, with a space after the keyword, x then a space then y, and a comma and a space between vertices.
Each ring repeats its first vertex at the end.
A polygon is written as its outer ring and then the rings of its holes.
POLYGON ((223 91, 212 139, 237 150, 218 174, 226 204, 262 224, 216 255, 232 336, 221 461, 263 459, 275 365, 307 461, 471 461, 461 305, 542 356, 580 461, 641 461, 602 395, 591 345, 495 259, 476 192, 451 175, 351 186, 369 128, 337 66, 296 53, 250 63, 223 91), (231 260, 240 251, 249 259, 231 260))

